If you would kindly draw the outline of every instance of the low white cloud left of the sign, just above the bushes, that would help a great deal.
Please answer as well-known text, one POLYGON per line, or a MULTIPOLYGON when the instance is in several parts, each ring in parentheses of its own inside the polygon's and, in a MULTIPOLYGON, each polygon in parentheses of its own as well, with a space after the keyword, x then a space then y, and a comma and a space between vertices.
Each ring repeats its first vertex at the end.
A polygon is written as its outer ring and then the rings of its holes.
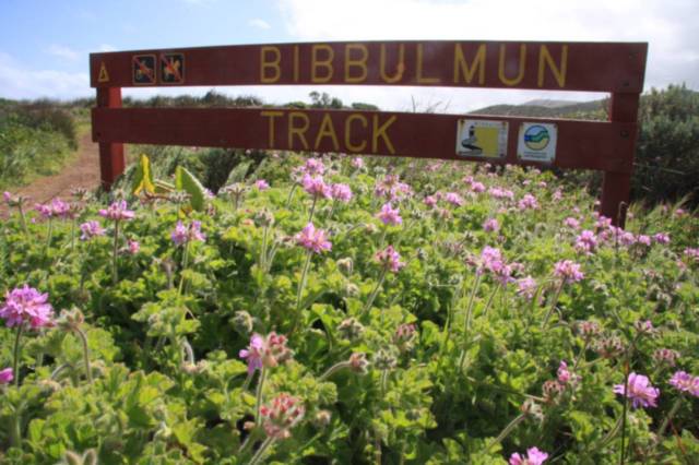
POLYGON ((0 51, 0 97, 74 98, 93 95, 87 73, 29 70, 0 51))

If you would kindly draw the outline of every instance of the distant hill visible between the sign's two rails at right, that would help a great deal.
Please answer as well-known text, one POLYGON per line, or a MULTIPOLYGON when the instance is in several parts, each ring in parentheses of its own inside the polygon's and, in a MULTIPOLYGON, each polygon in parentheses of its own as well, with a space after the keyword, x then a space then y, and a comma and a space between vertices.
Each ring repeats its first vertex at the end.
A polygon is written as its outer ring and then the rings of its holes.
POLYGON ((491 105, 472 115, 530 116, 542 118, 606 119, 606 100, 531 100, 522 105, 491 105))

